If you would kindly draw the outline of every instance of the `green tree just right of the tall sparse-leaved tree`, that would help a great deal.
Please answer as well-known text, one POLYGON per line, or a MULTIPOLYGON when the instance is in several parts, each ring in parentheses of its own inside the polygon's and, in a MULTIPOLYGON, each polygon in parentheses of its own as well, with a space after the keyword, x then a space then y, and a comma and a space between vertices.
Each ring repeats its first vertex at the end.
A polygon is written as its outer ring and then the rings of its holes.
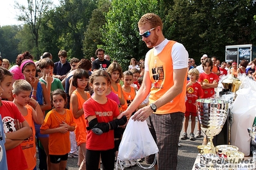
MULTIPOLYGON (((55 43, 54 49, 67 51, 69 58, 83 58, 83 39, 92 11, 97 8, 92 0, 65 0, 51 10, 50 19, 44 24, 43 40, 46 44, 55 43)), ((58 52, 58 51, 57 51, 58 52)), ((56 59, 56 58, 55 58, 56 59)))

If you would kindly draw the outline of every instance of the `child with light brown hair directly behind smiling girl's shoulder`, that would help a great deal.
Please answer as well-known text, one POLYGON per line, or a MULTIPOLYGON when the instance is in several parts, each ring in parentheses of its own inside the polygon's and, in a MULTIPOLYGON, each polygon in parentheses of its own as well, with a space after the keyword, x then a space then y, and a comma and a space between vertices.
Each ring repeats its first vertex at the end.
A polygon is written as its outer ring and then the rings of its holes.
POLYGON ((118 63, 111 63, 108 66, 107 72, 111 76, 111 89, 119 97, 121 105, 125 104, 123 90, 119 84, 120 79, 123 77, 122 67, 118 63))

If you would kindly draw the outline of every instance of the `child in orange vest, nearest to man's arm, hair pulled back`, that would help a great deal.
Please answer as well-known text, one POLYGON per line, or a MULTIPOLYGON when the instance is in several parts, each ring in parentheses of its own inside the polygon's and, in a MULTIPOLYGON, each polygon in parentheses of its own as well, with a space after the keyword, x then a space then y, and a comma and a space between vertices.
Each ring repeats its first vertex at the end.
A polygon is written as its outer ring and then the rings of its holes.
POLYGON ((122 86, 122 89, 126 105, 123 105, 122 109, 123 111, 126 111, 127 107, 132 103, 133 99, 135 98, 136 91, 135 88, 131 87, 131 84, 133 83, 133 73, 130 71, 125 71, 123 75, 124 84, 122 86))

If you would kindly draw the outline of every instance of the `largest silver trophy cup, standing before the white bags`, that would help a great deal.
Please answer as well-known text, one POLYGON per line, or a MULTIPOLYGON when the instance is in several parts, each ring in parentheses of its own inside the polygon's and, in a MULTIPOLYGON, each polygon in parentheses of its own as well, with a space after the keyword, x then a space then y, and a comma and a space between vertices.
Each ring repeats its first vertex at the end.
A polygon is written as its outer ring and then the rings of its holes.
POLYGON ((212 139, 218 135, 228 116, 228 101, 218 98, 201 98, 196 100, 196 109, 201 130, 209 138, 207 146, 216 153, 212 139))

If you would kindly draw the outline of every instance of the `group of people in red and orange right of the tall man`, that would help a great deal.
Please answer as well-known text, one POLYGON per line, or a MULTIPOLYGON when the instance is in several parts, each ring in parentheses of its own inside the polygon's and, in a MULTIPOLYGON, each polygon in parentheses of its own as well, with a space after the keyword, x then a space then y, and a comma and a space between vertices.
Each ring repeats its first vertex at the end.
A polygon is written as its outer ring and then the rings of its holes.
MULTIPOLYGON (((187 93, 186 93, 186 112, 185 120, 183 122, 183 133, 180 137, 181 140, 190 139, 191 141, 201 137, 200 123, 198 122, 198 130, 194 135, 194 128, 196 126, 196 100, 198 98, 210 98, 215 95, 214 88, 218 87, 219 79, 222 75, 231 75, 237 78, 238 75, 244 74, 254 81, 255 79, 255 65, 256 59, 248 62, 242 60, 237 66, 237 61, 220 61, 215 57, 208 58, 207 54, 201 57, 201 65, 196 66, 194 59, 189 58, 187 70, 187 93), (191 118, 191 132, 189 137, 187 135, 187 127, 191 118)), ((206 144, 204 139, 203 144, 206 144)))

